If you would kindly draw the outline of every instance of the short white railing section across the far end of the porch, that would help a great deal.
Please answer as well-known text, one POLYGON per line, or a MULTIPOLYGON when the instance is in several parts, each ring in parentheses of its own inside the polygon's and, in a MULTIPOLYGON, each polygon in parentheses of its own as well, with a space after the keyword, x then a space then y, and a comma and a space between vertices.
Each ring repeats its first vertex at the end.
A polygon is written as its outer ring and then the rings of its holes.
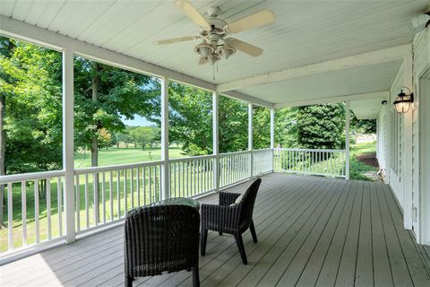
POLYGON ((274 170, 346 178, 346 151, 275 149, 274 170))

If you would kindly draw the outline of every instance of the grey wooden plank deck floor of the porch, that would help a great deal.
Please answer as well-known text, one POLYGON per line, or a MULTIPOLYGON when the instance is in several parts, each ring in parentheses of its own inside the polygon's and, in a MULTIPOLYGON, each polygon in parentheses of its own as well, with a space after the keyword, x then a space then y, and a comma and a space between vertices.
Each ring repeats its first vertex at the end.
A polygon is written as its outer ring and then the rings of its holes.
MULTIPOLYGON (((270 174, 262 177, 254 222, 259 242, 249 232, 244 237, 248 265, 232 236, 210 231, 200 260, 202 286, 430 286, 383 184, 270 174)), ((0 285, 124 285, 122 231, 107 230, 4 265, 0 285)), ((191 273, 139 278, 133 285, 191 285, 191 273)))

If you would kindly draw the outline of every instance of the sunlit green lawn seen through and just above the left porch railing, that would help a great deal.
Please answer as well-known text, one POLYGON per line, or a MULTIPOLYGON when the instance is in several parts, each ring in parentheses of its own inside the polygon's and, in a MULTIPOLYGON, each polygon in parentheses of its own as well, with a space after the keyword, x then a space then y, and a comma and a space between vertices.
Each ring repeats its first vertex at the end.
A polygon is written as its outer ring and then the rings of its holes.
MULTIPOLYGON (((186 157, 184 154, 182 154, 181 149, 179 148, 170 148, 169 149, 169 157, 170 158, 183 158, 186 157)), ((141 149, 125 149, 125 148, 110 148, 107 150, 102 150, 99 152, 99 166, 107 166, 107 165, 116 165, 116 164, 125 164, 125 163, 136 163, 136 162, 142 162, 142 161, 159 161, 161 159, 161 151, 160 150, 151 150, 151 151, 142 151, 141 149)), ((79 152, 75 154, 75 168, 86 168, 90 167, 90 161, 91 156, 90 152, 84 153, 79 152)), ((142 170, 141 170, 142 171, 142 170)), ((135 171, 134 171, 135 172, 135 171)), ((147 178, 145 183, 145 189, 148 191, 151 189, 152 196, 151 199, 149 198, 149 192, 148 195, 146 195, 146 202, 149 203, 150 201, 157 200, 159 197, 159 186, 155 185, 155 174, 154 170, 151 172, 151 177, 149 175, 149 170, 147 172, 147 178), (150 186, 151 185, 151 186, 150 186), (157 192, 155 192, 157 190, 157 192)), ((136 174, 134 173, 134 177, 136 177, 136 174)), ((159 178, 159 170, 157 174, 157 178, 159 178)), ((99 176, 99 182, 101 182, 102 178, 99 176)), ((141 176, 142 180, 142 176, 141 176)), ((86 225, 86 209, 85 209, 85 178, 84 176, 80 177, 80 222, 81 226, 84 227, 86 225)), ((119 201, 121 202, 118 205, 118 195, 116 193, 116 185, 117 185, 117 175, 116 173, 113 174, 113 187, 114 187, 114 194, 112 195, 112 199, 109 197, 109 181, 110 181, 110 174, 107 172, 106 178, 105 178, 105 197, 106 197, 106 204, 107 204, 107 220, 111 218, 116 218, 118 214, 118 207, 120 206, 119 213, 125 213, 125 193, 124 193, 124 173, 120 174, 120 189, 119 189, 119 201), (110 214, 110 202, 112 201, 112 204, 115 206, 115 210, 113 214, 110 214)), ((128 173, 126 178, 125 186, 127 189, 131 187, 131 175, 128 173)), ((88 177, 88 189, 89 189, 89 196, 88 196, 88 204, 89 204, 89 213, 90 213, 90 225, 93 225, 93 180, 92 175, 90 174, 88 177)), ((99 188, 102 188, 101 183, 99 188)), ((140 182, 140 188, 143 191, 142 182, 140 182)), ((137 182, 135 178, 133 179, 133 189, 137 190, 137 182)), ((58 226, 58 202, 57 202, 57 178, 51 178, 50 182, 50 213, 51 213, 51 236, 56 237, 59 235, 59 226, 58 226)), ((27 217, 27 242, 28 244, 35 243, 36 242, 36 224, 35 224, 35 196, 34 196, 34 185, 32 182, 28 182, 26 185, 26 217, 27 217)), ((7 187, 5 190, 5 200, 7 203, 7 187)), ((143 202, 143 194, 141 193, 140 200, 143 202)), ((100 196, 101 201, 101 196, 100 196)), ((137 192, 134 192, 133 196, 133 202, 137 203, 138 196, 137 192)), ((128 196, 127 198, 127 205, 131 206, 131 196, 128 196)), ((99 211, 101 216, 102 211, 102 204, 99 204, 99 211)), ((48 237, 48 231, 47 231, 47 199, 46 197, 39 197, 39 234, 40 234, 40 240, 47 239, 48 237)), ((64 214, 63 218, 64 218, 64 214)), ((100 218, 101 219, 101 218, 100 218)), ((4 218, 3 222, 5 225, 7 225, 7 209, 4 208, 4 218)), ((63 220, 63 226, 62 230, 64 232, 64 220, 63 220)), ((7 250, 7 229, 0 230, 0 252, 4 252, 7 250)), ((13 247, 14 248, 20 248, 22 246, 22 187, 21 183, 13 184, 13 247)))

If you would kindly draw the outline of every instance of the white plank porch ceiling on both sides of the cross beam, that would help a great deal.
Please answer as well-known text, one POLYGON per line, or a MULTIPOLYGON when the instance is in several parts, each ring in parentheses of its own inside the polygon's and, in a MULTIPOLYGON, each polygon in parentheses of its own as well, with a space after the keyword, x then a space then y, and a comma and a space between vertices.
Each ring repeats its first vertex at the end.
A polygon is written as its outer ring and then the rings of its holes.
MULTIPOLYGON (((197 42, 154 46, 152 43, 157 39, 199 32, 173 1, 2 0, 0 13, 209 83, 227 83, 410 43, 409 22, 425 12, 428 4, 428 1, 348 0, 191 2, 202 13, 211 6, 219 6, 223 11, 220 17, 227 22, 262 8, 270 9, 275 14, 273 24, 234 36, 264 48, 262 56, 236 53, 219 63, 219 72, 213 80, 211 66, 197 65, 193 52, 197 42)), ((241 91, 272 103, 298 96, 311 99, 329 94, 382 91, 392 82, 398 67, 398 62, 369 65, 241 91)))

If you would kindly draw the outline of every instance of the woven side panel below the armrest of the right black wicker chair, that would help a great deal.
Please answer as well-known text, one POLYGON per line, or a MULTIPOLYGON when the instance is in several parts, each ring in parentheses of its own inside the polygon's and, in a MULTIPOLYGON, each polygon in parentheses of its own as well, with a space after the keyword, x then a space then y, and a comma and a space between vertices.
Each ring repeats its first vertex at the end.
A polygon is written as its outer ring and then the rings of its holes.
POLYGON ((233 206, 202 204, 202 228, 230 232, 239 225, 240 205, 233 206))

